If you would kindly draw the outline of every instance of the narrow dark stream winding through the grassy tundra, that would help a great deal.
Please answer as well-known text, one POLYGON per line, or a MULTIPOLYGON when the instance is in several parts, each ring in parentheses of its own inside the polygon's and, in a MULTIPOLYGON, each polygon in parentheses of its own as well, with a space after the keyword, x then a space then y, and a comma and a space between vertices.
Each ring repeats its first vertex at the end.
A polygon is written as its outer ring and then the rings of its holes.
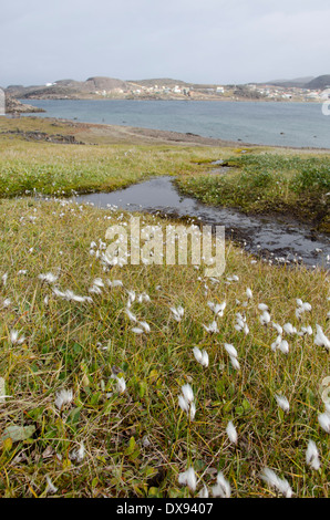
POLYGON ((100 208, 117 207, 128 211, 159 212, 175 218, 194 218, 204 225, 225 226, 226 237, 274 263, 305 263, 330 266, 330 238, 316 233, 307 225, 286 217, 247 216, 231 208, 207 206, 182 195, 173 177, 155 177, 127 188, 80 195, 78 204, 93 204, 100 208))

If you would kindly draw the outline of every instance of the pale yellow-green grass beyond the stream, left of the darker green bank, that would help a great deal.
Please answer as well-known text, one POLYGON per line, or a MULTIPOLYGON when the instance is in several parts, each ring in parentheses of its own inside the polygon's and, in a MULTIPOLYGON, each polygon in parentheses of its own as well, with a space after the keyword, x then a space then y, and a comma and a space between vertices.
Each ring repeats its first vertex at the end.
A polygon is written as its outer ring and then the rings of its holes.
MULTIPOLYGON (((95 144, 97 133, 62 124, 51 129, 38 118, 0 118, 0 132, 14 129, 84 136, 85 145, 28 142, 16 134, 0 133, 0 197, 71 195, 111 191, 157 175, 182 175, 196 170, 196 163, 209 159, 213 148, 95 144), (91 139, 91 141, 89 141, 91 139)), ((102 137, 102 135, 101 135, 102 137)))

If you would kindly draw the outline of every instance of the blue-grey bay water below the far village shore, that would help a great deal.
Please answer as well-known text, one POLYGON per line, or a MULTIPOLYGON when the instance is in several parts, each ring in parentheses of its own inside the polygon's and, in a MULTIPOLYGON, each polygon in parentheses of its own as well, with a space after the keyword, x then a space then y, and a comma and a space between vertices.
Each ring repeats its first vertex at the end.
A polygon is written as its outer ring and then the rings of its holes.
POLYGON ((330 148, 319 103, 30 100, 41 117, 138 126, 252 144, 330 148))

